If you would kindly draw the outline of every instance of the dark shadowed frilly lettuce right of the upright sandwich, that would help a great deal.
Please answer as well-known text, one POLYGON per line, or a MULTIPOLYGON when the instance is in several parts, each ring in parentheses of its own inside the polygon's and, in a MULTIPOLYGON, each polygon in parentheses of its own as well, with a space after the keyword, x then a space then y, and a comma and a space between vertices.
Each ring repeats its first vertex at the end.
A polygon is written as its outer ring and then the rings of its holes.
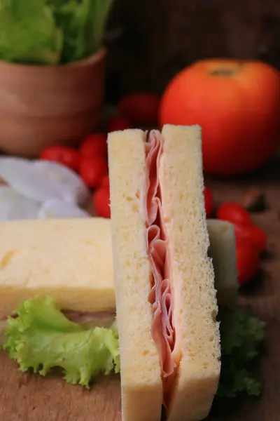
POLYGON ((255 358, 265 336, 265 323, 242 309, 219 309, 221 321, 221 378, 217 396, 234 398, 246 393, 258 396, 260 382, 255 378, 255 358))

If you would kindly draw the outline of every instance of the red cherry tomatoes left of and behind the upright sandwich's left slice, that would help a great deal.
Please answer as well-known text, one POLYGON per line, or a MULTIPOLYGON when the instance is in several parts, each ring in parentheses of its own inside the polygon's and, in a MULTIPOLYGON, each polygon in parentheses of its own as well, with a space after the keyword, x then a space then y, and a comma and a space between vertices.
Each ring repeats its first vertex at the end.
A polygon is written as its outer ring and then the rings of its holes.
MULTIPOLYGON (((107 132, 157 126, 159 106, 159 98, 152 93, 126 95, 118 104, 118 115, 109 119, 107 132)), ((94 210, 102 218, 111 216, 106 138, 105 133, 92 133, 81 142, 79 149, 55 145, 41 153, 41 159, 61 163, 80 175, 94 191, 94 210)))

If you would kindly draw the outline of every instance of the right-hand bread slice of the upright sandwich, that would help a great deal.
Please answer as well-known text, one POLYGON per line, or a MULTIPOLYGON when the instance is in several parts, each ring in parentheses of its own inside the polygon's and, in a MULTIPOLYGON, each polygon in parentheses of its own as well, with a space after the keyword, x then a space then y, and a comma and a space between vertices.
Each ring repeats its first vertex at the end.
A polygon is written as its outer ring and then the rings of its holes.
POLYGON ((162 209, 173 287, 177 284, 174 326, 181 348, 168 417, 170 421, 198 421, 209 413, 221 370, 214 268, 207 255, 201 129, 166 125, 162 136, 162 209))

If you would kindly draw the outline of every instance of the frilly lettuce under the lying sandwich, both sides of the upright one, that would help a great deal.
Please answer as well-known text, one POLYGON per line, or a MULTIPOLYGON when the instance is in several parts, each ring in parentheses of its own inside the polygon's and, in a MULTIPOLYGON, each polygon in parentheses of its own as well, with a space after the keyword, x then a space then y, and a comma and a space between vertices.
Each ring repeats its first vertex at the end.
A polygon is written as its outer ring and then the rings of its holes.
MULTIPOLYGON (((87 329, 66 319, 50 297, 22 302, 17 318, 8 318, 4 349, 18 361, 20 370, 32 368, 46 375, 52 368, 64 370, 64 379, 89 387, 99 373, 120 372, 118 331, 87 329)), ((218 397, 260 394, 253 363, 265 335, 265 323, 242 309, 220 308, 222 366, 218 397)))

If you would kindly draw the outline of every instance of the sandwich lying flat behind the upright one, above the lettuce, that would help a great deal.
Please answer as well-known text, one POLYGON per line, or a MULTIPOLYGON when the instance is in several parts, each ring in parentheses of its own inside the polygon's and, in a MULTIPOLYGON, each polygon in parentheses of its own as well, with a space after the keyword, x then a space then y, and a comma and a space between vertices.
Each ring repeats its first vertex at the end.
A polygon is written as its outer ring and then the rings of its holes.
MULTIPOLYGON (((208 220, 220 305, 237 300, 232 224, 208 220)), ((108 327, 116 304, 111 222, 103 218, 0 222, 0 332, 20 303, 50 295, 71 321, 108 327)))

